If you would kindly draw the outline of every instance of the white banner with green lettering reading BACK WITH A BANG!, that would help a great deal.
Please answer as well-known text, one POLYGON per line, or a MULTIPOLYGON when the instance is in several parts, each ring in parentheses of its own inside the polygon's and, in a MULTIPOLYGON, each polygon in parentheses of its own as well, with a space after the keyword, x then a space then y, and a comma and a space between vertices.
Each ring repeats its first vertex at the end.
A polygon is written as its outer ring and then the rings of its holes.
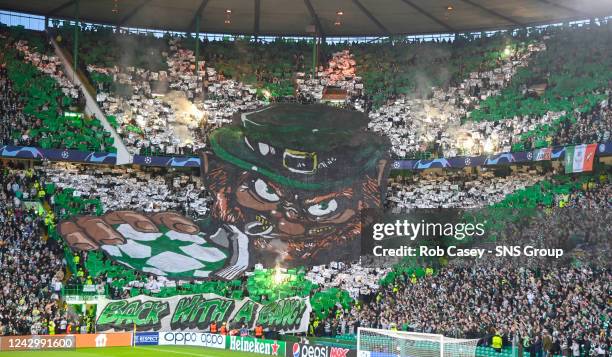
POLYGON ((261 324, 276 332, 305 332, 311 312, 308 298, 281 299, 266 305, 251 299, 228 299, 216 294, 154 298, 137 296, 125 300, 102 300, 96 316, 97 331, 206 331, 212 322, 242 324, 253 329, 261 324))

